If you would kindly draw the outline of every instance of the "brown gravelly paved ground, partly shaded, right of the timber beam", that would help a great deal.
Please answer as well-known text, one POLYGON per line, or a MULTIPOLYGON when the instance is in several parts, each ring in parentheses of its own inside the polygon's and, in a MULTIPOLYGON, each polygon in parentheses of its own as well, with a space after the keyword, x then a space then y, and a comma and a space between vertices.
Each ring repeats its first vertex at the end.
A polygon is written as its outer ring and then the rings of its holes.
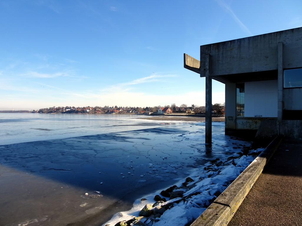
POLYGON ((302 142, 283 141, 228 226, 302 225, 302 142))

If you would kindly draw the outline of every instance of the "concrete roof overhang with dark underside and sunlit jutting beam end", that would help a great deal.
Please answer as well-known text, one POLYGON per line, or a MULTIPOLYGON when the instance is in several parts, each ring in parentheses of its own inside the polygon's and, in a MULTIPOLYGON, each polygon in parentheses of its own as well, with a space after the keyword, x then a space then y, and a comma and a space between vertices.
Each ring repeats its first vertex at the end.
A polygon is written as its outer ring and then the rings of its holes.
POLYGON ((200 61, 184 54, 184 67, 200 74, 200 77, 208 73, 212 79, 222 83, 276 80, 280 54, 282 69, 302 67, 301 37, 302 27, 298 27, 202 45, 200 61), (280 43, 282 52, 278 50, 280 43))

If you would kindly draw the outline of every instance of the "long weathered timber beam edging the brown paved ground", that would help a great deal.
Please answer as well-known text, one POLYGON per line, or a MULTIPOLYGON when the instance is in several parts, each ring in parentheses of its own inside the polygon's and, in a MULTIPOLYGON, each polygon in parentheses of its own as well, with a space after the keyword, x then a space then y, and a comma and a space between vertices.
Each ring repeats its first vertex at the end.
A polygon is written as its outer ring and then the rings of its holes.
POLYGON ((282 139, 283 135, 277 136, 191 226, 227 225, 263 171, 265 165, 275 153, 282 139))

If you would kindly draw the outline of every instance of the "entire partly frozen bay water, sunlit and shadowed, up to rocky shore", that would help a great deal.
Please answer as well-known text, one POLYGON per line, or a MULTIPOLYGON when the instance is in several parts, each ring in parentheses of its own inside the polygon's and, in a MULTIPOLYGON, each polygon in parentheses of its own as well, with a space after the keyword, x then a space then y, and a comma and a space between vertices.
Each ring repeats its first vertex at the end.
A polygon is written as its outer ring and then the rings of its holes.
POLYGON ((229 152, 224 122, 144 115, 0 114, 0 225, 102 225, 229 152))

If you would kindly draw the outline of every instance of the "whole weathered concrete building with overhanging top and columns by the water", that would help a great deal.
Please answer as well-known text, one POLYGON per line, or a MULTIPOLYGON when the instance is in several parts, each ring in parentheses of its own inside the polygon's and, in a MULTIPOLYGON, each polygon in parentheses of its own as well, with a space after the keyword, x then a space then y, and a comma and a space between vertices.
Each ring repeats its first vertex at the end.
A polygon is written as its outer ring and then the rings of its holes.
POLYGON ((302 138, 302 27, 200 46, 184 67, 206 78, 206 143, 212 79, 225 84, 225 132, 302 138))

